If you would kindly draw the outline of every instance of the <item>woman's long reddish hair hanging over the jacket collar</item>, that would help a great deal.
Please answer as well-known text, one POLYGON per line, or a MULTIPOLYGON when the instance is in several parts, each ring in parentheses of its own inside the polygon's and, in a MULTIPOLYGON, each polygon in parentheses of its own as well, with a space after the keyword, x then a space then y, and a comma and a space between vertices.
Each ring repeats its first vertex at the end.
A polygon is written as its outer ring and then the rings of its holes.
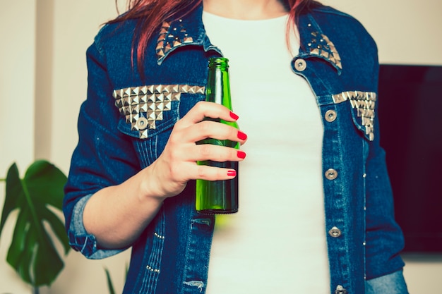
MULTIPOLYGON (((116 2, 118 0, 115 0, 116 2)), ((138 69, 143 68, 143 60, 149 40, 165 20, 176 20, 193 11, 203 0, 127 0, 128 11, 109 23, 119 23, 124 20, 138 19, 136 31, 132 40, 132 61, 136 55, 138 69)), ((287 23, 287 39, 289 31, 293 30, 299 15, 318 5, 314 0, 281 0, 289 9, 287 23)), ((288 44, 288 43, 287 43, 288 44)))

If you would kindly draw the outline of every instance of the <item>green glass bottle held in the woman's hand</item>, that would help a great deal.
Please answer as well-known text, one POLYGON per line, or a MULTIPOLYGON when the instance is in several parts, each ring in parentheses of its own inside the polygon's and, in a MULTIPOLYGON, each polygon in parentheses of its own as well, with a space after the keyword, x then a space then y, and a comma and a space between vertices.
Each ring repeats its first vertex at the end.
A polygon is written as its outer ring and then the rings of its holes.
MULTIPOLYGON (((229 59, 214 57, 209 60, 205 100, 222 104, 232 110, 229 84, 229 59)), ((206 118, 238 128, 236 122, 206 118)), ((213 144, 239 149, 239 143, 230 140, 205 139, 198 144, 213 144)), ((237 176, 231 180, 196 180, 196 211, 201 214, 232 214, 238 212, 238 161, 198 161, 198 164, 234 169, 237 176)))

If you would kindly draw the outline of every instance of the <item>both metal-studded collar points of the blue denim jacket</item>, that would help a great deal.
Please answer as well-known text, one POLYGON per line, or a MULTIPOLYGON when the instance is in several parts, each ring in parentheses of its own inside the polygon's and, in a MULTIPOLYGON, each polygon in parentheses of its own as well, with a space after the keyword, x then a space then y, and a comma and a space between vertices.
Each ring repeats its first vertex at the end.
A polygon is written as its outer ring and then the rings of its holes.
MULTIPOLYGON (((202 46, 205 51, 215 50, 221 54, 220 49, 210 44, 207 35, 205 35, 202 18, 203 5, 201 4, 183 18, 162 23, 156 46, 159 65, 167 59, 172 51, 189 45, 202 46)), ((338 50, 333 42, 324 35, 316 19, 313 18, 313 14, 304 13, 299 17, 299 37, 301 46, 298 57, 324 59, 340 73, 342 63, 338 50)))

